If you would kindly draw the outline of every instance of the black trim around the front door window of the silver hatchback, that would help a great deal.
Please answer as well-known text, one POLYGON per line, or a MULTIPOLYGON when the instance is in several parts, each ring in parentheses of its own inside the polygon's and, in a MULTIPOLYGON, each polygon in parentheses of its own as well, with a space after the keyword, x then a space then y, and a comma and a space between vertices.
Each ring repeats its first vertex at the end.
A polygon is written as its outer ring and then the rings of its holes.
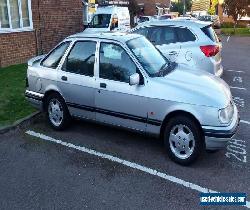
MULTIPOLYGON (((129 58, 130 58, 130 60, 131 60, 131 62, 133 62, 133 64, 135 65, 135 67, 136 67, 136 73, 138 73, 139 75, 140 75, 140 83, 139 83, 139 85, 144 85, 145 84, 145 78, 144 78, 144 76, 143 76, 143 74, 141 73, 141 71, 140 71, 140 69, 139 69, 139 67, 138 67, 138 65, 137 65, 137 63, 134 61, 134 59, 130 56, 130 53, 129 53, 129 50, 127 50, 126 48, 124 48, 122 45, 121 45, 121 43, 118 43, 118 42, 113 42, 113 41, 110 41, 110 40, 100 40, 100 42, 99 42, 99 49, 98 49, 98 78, 100 78, 100 79, 105 79, 105 78, 101 78, 100 77, 100 56, 101 56, 101 53, 100 53, 100 50, 101 50, 101 45, 102 44, 113 44, 113 45, 117 45, 117 46, 119 46, 119 47, 121 47, 126 53, 127 53, 127 55, 129 56, 129 58)), ((117 80, 111 80, 111 79, 105 79, 105 80, 109 80, 109 81, 113 81, 113 82, 120 82, 120 83, 123 83, 123 84, 128 84, 129 85, 129 83, 128 82, 122 82, 122 81, 117 81, 117 80)))

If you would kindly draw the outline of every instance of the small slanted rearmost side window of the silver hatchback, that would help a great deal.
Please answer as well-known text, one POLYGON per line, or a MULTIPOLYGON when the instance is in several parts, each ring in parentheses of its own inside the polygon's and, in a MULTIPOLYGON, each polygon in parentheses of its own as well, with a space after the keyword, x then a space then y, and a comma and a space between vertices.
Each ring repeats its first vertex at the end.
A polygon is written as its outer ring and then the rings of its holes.
POLYGON ((42 61, 41 65, 47 68, 56 69, 65 51, 68 49, 69 44, 70 42, 63 42, 60 44, 42 61))

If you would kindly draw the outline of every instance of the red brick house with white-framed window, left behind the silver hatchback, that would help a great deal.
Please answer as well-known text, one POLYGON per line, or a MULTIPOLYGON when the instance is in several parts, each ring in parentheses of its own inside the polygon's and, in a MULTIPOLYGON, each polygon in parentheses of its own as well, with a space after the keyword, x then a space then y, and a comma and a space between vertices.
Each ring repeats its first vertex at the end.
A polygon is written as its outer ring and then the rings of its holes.
POLYGON ((1 0, 0 67, 47 53, 83 30, 81 0, 1 0))

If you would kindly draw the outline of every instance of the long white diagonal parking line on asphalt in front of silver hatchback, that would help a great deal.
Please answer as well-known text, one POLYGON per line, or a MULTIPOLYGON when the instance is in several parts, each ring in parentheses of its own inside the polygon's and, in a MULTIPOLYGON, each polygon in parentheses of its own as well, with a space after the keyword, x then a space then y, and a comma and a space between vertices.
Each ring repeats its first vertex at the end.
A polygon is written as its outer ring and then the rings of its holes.
MULTIPOLYGON (((95 155, 95 156, 97 156, 99 158, 107 159, 107 160, 110 160, 112 162, 116 162, 116 163, 128 166, 128 167, 133 168, 133 169, 137 169, 139 171, 143 171, 145 173, 148 173, 148 174, 151 174, 151 175, 154 175, 154 176, 158 176, 158 177, 163 178, 165 180, 168 180, 170 182, 182 185, 182 186, 184 186, 186 188, 189 188, 189 189, 201 192, 201 193, 219 193, 219 192, 211 190, 209 188, 201 187, 201 186, 199 186, 197 184, 187 182, 185 180, 182 180, 182 179, 179 179, 177 177, 168 175, 166 173, 162 173, 162 172, 159 172, 157 170, 154 170, 154 169, 139 165, 137 163, 130 162, 130 161, 127 161, 127 160, 123 160, 123 159, 120 159, 118 157, 108 155, 108 154, 105 154, 105 153, 101 153, 101 152, 98 152, 98 151, 95 151, 95 150, 92 150, 92 149, 89 149, 89 148, 86 148, 86 147, 76 146, 74 144, 67 143, 67 142, 64 142, 64 141, 61 141, 61 140, 58 140, 58 139, 54 139, 52 137, 46 136, 46 135, 41 134, 41 133, 37 133, 37 132, 29 130, 29 131, 26 131, 26 134, 28 134, 30 136, 40 138, 40 139, 43 139, 45 141, 50 141, 50 142, 54 142, 56 144, 60 144, 60 145, 63 145, 63 146, 69 147, 69 148, 73 148, 73 149, 88 153, 90 155, 95 155)), ((250 202, 249 201, 246 202, 245 207, 250 208, 250 202)))

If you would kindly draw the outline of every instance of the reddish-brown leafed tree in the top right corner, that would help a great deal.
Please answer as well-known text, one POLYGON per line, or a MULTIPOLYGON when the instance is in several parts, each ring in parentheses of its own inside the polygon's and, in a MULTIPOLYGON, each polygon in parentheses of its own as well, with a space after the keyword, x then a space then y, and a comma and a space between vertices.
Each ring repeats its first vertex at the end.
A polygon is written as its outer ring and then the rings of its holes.
POLYGON ((247 13, 247 7, 250 5, 250 0, 225 0, 224 9, 228 16, 232 16, 234 20, 234 31, 241 19, 247 13))

